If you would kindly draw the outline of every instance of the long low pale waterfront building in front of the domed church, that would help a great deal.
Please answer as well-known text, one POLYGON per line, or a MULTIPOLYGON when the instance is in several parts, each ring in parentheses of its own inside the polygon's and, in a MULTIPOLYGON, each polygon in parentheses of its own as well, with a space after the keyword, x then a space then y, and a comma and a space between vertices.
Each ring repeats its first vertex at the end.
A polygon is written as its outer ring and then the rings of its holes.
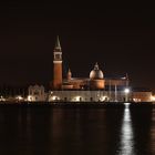
POLYGON ((124 91, 51 91, 49 93, 49 102, 124 102, 130 99, 130 94, 126 96, 124 91))

